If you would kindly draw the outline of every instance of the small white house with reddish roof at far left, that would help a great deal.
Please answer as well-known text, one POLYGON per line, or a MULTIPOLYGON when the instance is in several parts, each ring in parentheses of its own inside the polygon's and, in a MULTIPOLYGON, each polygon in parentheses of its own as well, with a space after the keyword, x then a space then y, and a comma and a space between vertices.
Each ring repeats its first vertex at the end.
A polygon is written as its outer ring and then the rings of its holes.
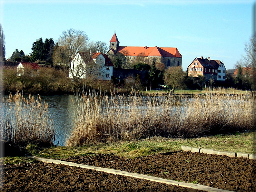
POLYGON ((39 65, 33 62, 20 62, 17 66, 17 77, 20 77, 27 73, 31 77, 39 75, 39 65))

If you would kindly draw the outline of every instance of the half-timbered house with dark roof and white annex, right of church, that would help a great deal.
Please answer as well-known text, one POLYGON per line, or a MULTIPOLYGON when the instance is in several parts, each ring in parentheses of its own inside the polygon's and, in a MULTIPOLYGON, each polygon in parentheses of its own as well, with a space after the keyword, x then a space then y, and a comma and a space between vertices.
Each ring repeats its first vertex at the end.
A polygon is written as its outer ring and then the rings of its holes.
POLYGON ((193 62, 188 66, 188 76, 197 77, 203 75, 208 81, 214 79, 217 81, 226 80, 226 67, 220 60, 211 60, 210 57, 196 57, 193 62))

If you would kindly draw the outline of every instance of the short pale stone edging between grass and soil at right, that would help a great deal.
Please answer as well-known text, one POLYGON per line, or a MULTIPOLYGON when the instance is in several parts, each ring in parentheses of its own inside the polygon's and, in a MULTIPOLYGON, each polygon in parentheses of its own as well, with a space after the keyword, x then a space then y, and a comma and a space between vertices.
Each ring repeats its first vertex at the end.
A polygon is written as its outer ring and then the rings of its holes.
MULTIPOLYGON (((200 145, 201 146, 201 145, 200 145)), ((256 159, 256 154, 249 154, 249 153, 236 153, 236 152, 229 152, 229 151, 218 151, 214 149, 204 149, 204 148, 193 148, 188 146, 181 146, 183 151, 191 151, 191 152, 198 152, 198 153, 206 153, 206 154, 214 154, 214 155, 226 155, 229 157, 244 157, 250 159, 256 159)))

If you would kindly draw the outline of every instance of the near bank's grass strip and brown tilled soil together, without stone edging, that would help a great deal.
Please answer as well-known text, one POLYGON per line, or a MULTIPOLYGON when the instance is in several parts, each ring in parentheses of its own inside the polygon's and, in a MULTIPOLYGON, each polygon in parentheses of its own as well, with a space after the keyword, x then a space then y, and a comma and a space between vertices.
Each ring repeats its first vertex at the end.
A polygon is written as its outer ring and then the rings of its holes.
MULTIPOLYGON (((255 150, 256 132, 194 139, 154 137, 80 147, 27 148, 30 155, 118 169, 237 192, 254 191, 255 159, 182 152, 180 146, 248 152, 255 150)), ((126 178, 95 170, 39 163, 34 158, 5 157, 2 191, 191 191, 166 184, 126 178), (35 187, 36 186, 36 187, 35 187)))

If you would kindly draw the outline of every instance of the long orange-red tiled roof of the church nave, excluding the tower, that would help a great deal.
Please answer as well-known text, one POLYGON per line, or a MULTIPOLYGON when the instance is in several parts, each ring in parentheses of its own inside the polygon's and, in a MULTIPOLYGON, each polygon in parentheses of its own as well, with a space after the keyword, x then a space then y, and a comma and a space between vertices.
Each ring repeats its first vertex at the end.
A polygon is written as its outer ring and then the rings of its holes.
POLYGON ((117 50, 125 56, 162 56, 162 57, 180 57, 182 55, 176 47, 127 47, 120 46, 117 50))

